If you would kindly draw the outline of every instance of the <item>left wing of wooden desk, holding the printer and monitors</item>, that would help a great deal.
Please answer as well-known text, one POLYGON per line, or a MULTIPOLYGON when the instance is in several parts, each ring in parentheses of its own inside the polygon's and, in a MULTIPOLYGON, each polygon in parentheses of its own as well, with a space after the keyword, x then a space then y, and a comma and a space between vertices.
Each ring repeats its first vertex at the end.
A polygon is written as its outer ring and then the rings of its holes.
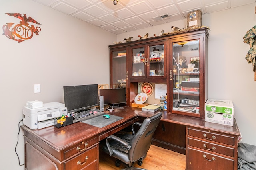
POLYGON ((31 130, 25 125, 26 170, 97 170, 99 165, 99 141, 137 121, 141 110, 130 108, 106 111, 124 117, 106 127, 98 128, 78 122, 66 127, 54 126, 31 130))

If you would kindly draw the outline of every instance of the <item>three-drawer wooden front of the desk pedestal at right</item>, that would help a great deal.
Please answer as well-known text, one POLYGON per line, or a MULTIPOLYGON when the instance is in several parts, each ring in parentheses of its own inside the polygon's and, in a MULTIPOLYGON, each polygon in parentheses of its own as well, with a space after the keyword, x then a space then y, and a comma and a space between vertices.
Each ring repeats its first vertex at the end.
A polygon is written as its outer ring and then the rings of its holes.
POLYGON ((237 169, 237 136, 200 129, 186 128, 187 170, 237 169))

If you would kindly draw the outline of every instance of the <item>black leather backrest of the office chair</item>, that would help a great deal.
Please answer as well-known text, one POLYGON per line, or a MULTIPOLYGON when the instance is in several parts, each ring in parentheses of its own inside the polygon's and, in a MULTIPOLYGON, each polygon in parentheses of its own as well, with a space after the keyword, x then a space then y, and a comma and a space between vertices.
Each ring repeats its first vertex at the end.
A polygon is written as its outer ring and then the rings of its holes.
POLYGON ((131 162, 135 162, 146 156, 150 148, 153 134, 162 117, 162 112, 158 112, 153 116, 147 117, 132 141, 130 142, 131 149, 128 150, 128 157, 131 162))

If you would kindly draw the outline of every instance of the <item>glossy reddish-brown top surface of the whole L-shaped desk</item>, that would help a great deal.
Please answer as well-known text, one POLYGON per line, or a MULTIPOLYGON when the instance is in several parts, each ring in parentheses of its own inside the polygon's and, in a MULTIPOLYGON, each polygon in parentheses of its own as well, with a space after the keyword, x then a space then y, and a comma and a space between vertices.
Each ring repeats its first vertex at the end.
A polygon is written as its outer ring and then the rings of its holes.
MULTIPOLYGON (((30 132, 30 134, 33 134, 36 137, 40 138, 40 140, 48 143, 56 150, 62 150, 64 147, 71 146, 74 143, 83 141, 84 139, 89 139, 106 131, 109 131, 110 129, 117 127, 120 124, 125 123, 127 121, 130 121, 135 117, 149 117, 154 114, 152 112, 141 111, 141 109, 135 107, 124 107, 124 109, 114 109, 114 111, 112 112, 105 111, 105 113, 109 115, 117 115, 124 118, 102 128, 88 125, 82 122, 73 123, 71 125, 61 127, 59 129, 54 126, 51 126, 46 127, 44 129, 31 130, 25 125, 22 125, 22 128, 26 129, 26 131, 30 132)), ((161 120, 170 123, 200 127, 205 129, 217 129, 220 132, 229 133, 232 135, 239 135, 236 121, 234 121, 234 126, 227 126, 205 122, 204 119, 170 114, 166 113, 166 111, 163 111, 163 116, 161 120)))

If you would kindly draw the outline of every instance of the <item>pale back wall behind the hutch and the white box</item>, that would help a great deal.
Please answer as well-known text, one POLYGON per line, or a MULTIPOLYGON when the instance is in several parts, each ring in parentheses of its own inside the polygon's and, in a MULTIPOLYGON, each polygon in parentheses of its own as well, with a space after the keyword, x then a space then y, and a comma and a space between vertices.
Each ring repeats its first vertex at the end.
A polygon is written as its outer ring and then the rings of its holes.
MULTIPOLYGON (((246 32, 256 25, 256 4, 249 4, 220 12, 202 15, 202 25, 210 27, 208 39, 208 98, 232 100, 234 117, 242 133, 244 143, 256 145, 256 81, 252 64, 245 56, 250 49, 244 43, 246 32)), ((158 35, 162 29, 171 32, 171 26, 183 28, 187 20, 180 20, 117 36, 124 38, 149 33, 158 35)))

